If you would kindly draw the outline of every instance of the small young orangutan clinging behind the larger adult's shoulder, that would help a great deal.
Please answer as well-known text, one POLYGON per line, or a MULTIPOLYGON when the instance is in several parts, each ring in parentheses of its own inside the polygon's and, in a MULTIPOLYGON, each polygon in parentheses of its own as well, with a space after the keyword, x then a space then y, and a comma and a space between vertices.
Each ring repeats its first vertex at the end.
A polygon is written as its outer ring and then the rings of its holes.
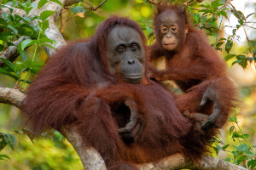
POLYGON ((151 77, 158 81, 173 80, 183 90, 184 94, 176 99, 180 111, 212 113, 202 129, 223 127, 236 99, 224 60, 203 32, 191 25, 185 8, 159 4, 154 33, 156 41, 149 47, 150 62, 164 56, 166 69, 157 71, 151 66, 151 77), (209 100, 213 102, 213 112, 209 100))

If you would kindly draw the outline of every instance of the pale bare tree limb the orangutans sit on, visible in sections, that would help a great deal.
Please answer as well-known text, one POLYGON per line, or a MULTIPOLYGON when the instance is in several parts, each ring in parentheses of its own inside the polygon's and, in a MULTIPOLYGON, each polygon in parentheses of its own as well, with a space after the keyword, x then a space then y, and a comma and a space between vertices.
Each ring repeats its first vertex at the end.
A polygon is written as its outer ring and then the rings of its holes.
MULTIPOLYGON (((20 107, 26 94, 21 93, 13 88, 0 88, 0 103, 15 105, 20 107)), ((106 169, 102 156, 100 156, 93 148, 88 148, 82 143, 82 139, 76 130, 72 127, 63 127, 61 133, 73 145, 73 148, 78 152, 79 157, 84 165, 84 169, 104 170, 106 169)), ((244 167, 236 166, 227 161, 222 161, 211 156, 204 156, 201 162, 195 164, 185 160, 181 154, 168 156, 160 161, 138 164, 141 170, 167 170, 180 168, 198 168, 207 170, 246 170, 244 167)))

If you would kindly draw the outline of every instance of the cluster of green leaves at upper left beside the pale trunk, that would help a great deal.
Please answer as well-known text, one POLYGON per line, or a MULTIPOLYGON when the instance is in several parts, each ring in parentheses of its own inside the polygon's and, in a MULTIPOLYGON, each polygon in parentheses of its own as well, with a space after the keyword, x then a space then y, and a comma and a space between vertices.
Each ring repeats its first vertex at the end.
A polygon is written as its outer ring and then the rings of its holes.
MULTIPOLYGON (((44 4, 47 2, 49 1, 41 0, 38 3, 38 8, 43 7, 44 4)), ((57 0, 55 0, 54 2, 61 4, 57 0)), ((13 1, 1 4, 2 8, 9 8, 10 14, 1 14, 0 51, 9 48, 9 46, 13 46, 13 42, 18 40, 22 36, 28 37, 28 39, 26 38, 25 40, 20 42, 17 47, 21 61, 16 61, 15 63, 12 63, 7 59, 1 58, 5 65, 3 66, 3 68, 0 68, 0 73, 14 78, 16 82, 30 83, 26 79, 22 79, 21 74, 27 74, 27 72, 37 74, 42 65, 44 65, 44 63, 35 62, 35 56, 32 57, 33 59, 27 59, 26 48, 38 45, 54 48, 51 44, 55 44, 55 41, 50 40, 48 37, 46 37, 44 33, 49 28, 49 20, 47 19, 50 15, 54 14, 55 11, 44 11, 40 14, 40 16, 19 16, 17 14, 14 15, 13 9, 10 8, 8 5, 12 5, 15 8, 21 8, 26 11, 26 14, 28 14, 32 9, 35 9, 37 5, 35 3, 31 3, 31 1, 26 1, 26 3, 18 3, 16 1, 13 1), (32 22, 37 22, 38 25, 32 25, 32 22)), ((35 54, 36 53, 34 53, 34 55, 35 54)))

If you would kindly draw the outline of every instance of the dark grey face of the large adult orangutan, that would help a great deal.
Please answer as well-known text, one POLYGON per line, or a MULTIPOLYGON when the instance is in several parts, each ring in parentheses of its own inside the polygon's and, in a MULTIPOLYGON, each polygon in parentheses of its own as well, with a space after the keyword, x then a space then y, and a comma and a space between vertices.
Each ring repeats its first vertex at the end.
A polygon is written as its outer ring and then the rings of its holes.
POLYGON ((116 26, 109 32, 106 46, 110 73, 127 83, 141 83, 145 51, 139 33, 131 27, 116 26))

